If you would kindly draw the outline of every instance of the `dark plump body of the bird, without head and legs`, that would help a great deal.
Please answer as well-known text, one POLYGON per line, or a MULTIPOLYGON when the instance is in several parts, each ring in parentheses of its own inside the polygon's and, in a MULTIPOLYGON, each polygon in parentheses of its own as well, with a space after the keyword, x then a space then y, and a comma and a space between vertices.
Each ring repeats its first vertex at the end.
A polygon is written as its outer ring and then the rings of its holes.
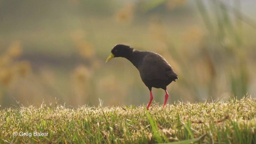
POLYGON ((154 52, 133 49, 127 59, 139 70, 142 81, 150 90, 152 87, 166 90, 166 86, 178 78, 170 64, 154 52))

